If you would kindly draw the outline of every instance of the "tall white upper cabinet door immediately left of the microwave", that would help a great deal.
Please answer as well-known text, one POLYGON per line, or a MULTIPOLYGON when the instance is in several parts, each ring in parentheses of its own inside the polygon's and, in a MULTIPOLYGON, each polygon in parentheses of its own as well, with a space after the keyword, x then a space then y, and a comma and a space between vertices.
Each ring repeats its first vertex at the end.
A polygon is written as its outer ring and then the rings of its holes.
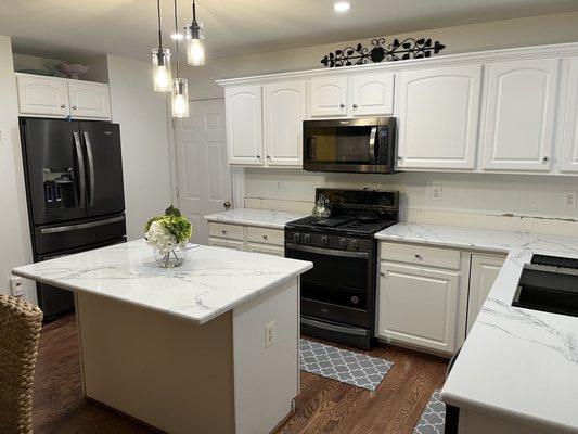
POLYGON ((265 87, 265 150, 268 166, 303 165, 303 122, 307 110, 307 82, 265 87))

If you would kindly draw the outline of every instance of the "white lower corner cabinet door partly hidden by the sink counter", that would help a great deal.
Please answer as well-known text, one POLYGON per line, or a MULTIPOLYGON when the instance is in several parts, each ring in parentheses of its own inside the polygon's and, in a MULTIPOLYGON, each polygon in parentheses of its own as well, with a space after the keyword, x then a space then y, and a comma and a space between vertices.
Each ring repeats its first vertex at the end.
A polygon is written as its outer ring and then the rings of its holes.
POLYGON ((470 296, 467 303, 467 333, 486 302, 498 273, 504 263, 503 257, 472 255, 470 268, 470 296))

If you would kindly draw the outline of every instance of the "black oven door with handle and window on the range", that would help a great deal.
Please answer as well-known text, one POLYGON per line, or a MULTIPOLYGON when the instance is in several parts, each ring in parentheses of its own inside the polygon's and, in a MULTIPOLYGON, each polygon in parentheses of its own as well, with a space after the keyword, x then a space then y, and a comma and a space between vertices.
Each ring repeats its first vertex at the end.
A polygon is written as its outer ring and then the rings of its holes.
POLYGON ((309 260, 301 275, 301 315, 364 329, 372 328, 373 260, 369 252, 285 244, 285 257, 309 260))

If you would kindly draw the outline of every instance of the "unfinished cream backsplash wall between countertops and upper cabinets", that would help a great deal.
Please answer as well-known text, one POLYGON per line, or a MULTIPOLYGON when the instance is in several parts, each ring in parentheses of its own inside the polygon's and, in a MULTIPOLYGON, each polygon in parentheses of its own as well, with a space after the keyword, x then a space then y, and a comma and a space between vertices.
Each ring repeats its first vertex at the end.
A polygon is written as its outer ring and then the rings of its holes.
POLYGON ((309 212, 317 187, 399 190, 403 220, 578 234, 578 208, 565 192, 578 192, 573 177, 401 173, 311 174, 295 169, 244 170, 245 206, 309 212), (441 199, 433 199, 433 187, 441 199))

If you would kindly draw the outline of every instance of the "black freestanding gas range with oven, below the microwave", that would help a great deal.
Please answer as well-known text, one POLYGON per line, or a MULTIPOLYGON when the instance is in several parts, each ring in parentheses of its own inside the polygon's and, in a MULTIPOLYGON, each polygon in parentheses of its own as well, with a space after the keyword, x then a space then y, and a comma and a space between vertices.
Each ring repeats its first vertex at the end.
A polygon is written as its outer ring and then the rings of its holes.
POLYGON ((370 348, 375 332, 377 241, 398 221, 399 192, 317 189, 329 218, 285 225, 285 257, 309 260, 301 275, 301 332, 370 348))

